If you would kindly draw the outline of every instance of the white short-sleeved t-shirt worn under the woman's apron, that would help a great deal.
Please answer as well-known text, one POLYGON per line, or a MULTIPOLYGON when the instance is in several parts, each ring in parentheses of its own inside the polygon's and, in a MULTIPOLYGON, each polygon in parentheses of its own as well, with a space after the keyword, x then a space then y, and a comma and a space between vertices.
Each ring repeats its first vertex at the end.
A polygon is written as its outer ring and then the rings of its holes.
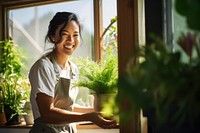
MULTIPOLYGON (((76 73, 77 75, 76 78, 78 78, 77 66, 72 62, 70 62, 70 64, 72 71, 76 73)), ((70 69, 63 71, 60 69, 60 76, 69 78, 70 77, 69 71, 70 69)), ((29 80, 31 83, 30 100, 31 100, 34 119, 36 119, 41 116, 36 102, 37 93, 41 92, 51 97, 54 97, 55 94, 55 86, 57 83, 56 73, 54 71, 54 65, 48 57, 42 57, 41 59, 35 62, 35 64, 32 66, 30 70, 29 80)), ((78 90, 76 89, 75 91, 73 90, 72 92, 69 93, 73 93, 70 95, 76 97, 78 94, 78 90)))

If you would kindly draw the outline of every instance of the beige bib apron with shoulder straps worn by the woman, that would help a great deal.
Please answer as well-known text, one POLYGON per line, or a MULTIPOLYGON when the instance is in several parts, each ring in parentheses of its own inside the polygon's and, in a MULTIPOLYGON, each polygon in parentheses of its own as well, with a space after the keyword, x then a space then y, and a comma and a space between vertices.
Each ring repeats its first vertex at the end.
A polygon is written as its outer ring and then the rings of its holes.
MULTIPOLYGON (((77 88, 73 88, 72 82, 76 79, 70 64, 70 79, 60 77, 58 64, 55 62, 53 52, 51 53, 50 60, 53 63, 54 71, 56 73, 57 84, 55 86, 54 106, 64 110, 73 110, 73 103, 75 101, 75 94, 77 88)), ((34 120, 34 125, 29 133, 77 133, 75 123, 71 124, 48 124, 45 123, 41 117, 34 120)))

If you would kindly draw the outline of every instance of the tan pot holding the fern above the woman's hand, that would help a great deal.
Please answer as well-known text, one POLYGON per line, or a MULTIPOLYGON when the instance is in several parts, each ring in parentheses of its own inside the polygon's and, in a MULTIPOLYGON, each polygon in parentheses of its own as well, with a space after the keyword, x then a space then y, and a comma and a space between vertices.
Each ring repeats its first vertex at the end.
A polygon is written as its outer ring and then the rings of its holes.
POLYGON ((116 94, 92 94, 94 96, 94 110, 100 112, 103 105, 114 99, 116 94))

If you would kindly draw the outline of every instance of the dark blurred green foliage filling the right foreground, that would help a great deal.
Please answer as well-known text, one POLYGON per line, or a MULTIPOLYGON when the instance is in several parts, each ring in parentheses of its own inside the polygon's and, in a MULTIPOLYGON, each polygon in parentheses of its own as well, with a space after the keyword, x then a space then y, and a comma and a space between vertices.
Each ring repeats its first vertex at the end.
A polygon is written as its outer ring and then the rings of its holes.
POLYGON ((153 37, 153 44, 141 47, 134 55, 141 63, 134 68, 129 64, 127 75, 119 79, 119 98, 131 99, 130 109, 143 109, 153 133, 200 131, 199 27, 191 23, 190 27, 193 31, 177 40, 187 61, 182 60, 182 52, 170 50, 161 39, 153 37))

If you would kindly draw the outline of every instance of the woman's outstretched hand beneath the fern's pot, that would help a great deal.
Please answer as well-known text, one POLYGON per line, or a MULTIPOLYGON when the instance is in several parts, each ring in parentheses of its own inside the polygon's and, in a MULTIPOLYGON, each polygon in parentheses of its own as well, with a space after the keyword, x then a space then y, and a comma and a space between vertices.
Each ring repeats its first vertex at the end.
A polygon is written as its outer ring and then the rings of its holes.
POLYGON ((101 116, 100 113, 97 112, 91 112, 84 114, 89 121, 93 122, 97 126, 101 128, 114 128, 116 127, 116 121, 115 120, 107 120, 101 116))

